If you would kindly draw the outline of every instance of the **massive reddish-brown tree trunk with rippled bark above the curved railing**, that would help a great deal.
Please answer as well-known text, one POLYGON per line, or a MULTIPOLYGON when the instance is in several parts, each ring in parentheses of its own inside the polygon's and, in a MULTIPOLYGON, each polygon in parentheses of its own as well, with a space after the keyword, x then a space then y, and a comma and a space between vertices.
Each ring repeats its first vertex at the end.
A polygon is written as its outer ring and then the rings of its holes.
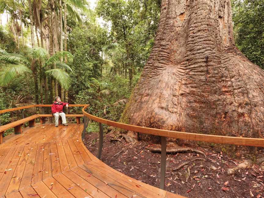
POLYGON ((162 0, 152 52, 121 121, 264 138, 263 79, 234 44, 229 0, 162 0))

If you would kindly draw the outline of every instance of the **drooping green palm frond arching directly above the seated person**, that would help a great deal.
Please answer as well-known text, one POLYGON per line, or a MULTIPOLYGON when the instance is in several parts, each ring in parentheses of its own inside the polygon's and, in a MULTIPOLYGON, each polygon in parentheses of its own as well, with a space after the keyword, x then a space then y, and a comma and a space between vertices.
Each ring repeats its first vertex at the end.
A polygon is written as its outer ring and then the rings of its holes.
POLYGON ((60 83, 60 86, 62 86, 65 90, 68 90, 71 86, 71 78, 66 71, 62 69, 50 69, 45 73, 56 79, 60 83))

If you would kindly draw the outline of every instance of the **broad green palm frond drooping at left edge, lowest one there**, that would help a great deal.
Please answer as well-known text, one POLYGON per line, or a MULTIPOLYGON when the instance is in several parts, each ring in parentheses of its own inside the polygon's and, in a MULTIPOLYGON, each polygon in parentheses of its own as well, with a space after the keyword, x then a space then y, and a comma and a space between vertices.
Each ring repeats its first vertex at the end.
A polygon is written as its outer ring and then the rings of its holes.
POLYGON ((18 75, 32 71, 23 64, 6 64, 0 70, 0 86, 7 86, 18 75))

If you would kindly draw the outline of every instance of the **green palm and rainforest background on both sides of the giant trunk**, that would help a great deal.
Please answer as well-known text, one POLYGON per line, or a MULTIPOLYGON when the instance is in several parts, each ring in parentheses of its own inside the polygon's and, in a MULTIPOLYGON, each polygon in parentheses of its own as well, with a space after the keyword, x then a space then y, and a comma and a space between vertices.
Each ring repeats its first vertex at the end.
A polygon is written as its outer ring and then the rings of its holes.
MULTIPOLYGON (((264 2, 231 2, 236 45, 263 69, 264 2)), ((151 52, 161 0, 90 3, 0 0, 0 109, 60 96, 119 120, 151 52)))

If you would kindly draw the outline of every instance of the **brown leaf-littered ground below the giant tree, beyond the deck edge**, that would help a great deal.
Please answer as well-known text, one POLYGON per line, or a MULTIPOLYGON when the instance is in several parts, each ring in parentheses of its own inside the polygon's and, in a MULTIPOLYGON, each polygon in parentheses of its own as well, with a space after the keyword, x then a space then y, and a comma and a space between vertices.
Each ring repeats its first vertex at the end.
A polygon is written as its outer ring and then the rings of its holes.
MULTIPOLYGON (((113 140, 118 139, 118 136, 113 132, 105 134, 101 160, 123 174, 159 188, 161 155, 147 148, 160 148, 160 145, 113 140)), ((98 141, 98 133, 86 134, 83 141, 95 156, 98 141)), ((167 145, 167 149, 170 149, 170 145, 167 145)), ((210 146, 195 149, 204 152, 205 156, 196 152, 167 154, 165 190, 188 198, 264 197, 264 163, 239 169, 229 175, 227 170, 243 163, 246 160, 244 157, 238 159, 210 146), (195 158, 205 161, 191 162, 195 158), (190 163, 172 171, 186 161, 190 163)))

